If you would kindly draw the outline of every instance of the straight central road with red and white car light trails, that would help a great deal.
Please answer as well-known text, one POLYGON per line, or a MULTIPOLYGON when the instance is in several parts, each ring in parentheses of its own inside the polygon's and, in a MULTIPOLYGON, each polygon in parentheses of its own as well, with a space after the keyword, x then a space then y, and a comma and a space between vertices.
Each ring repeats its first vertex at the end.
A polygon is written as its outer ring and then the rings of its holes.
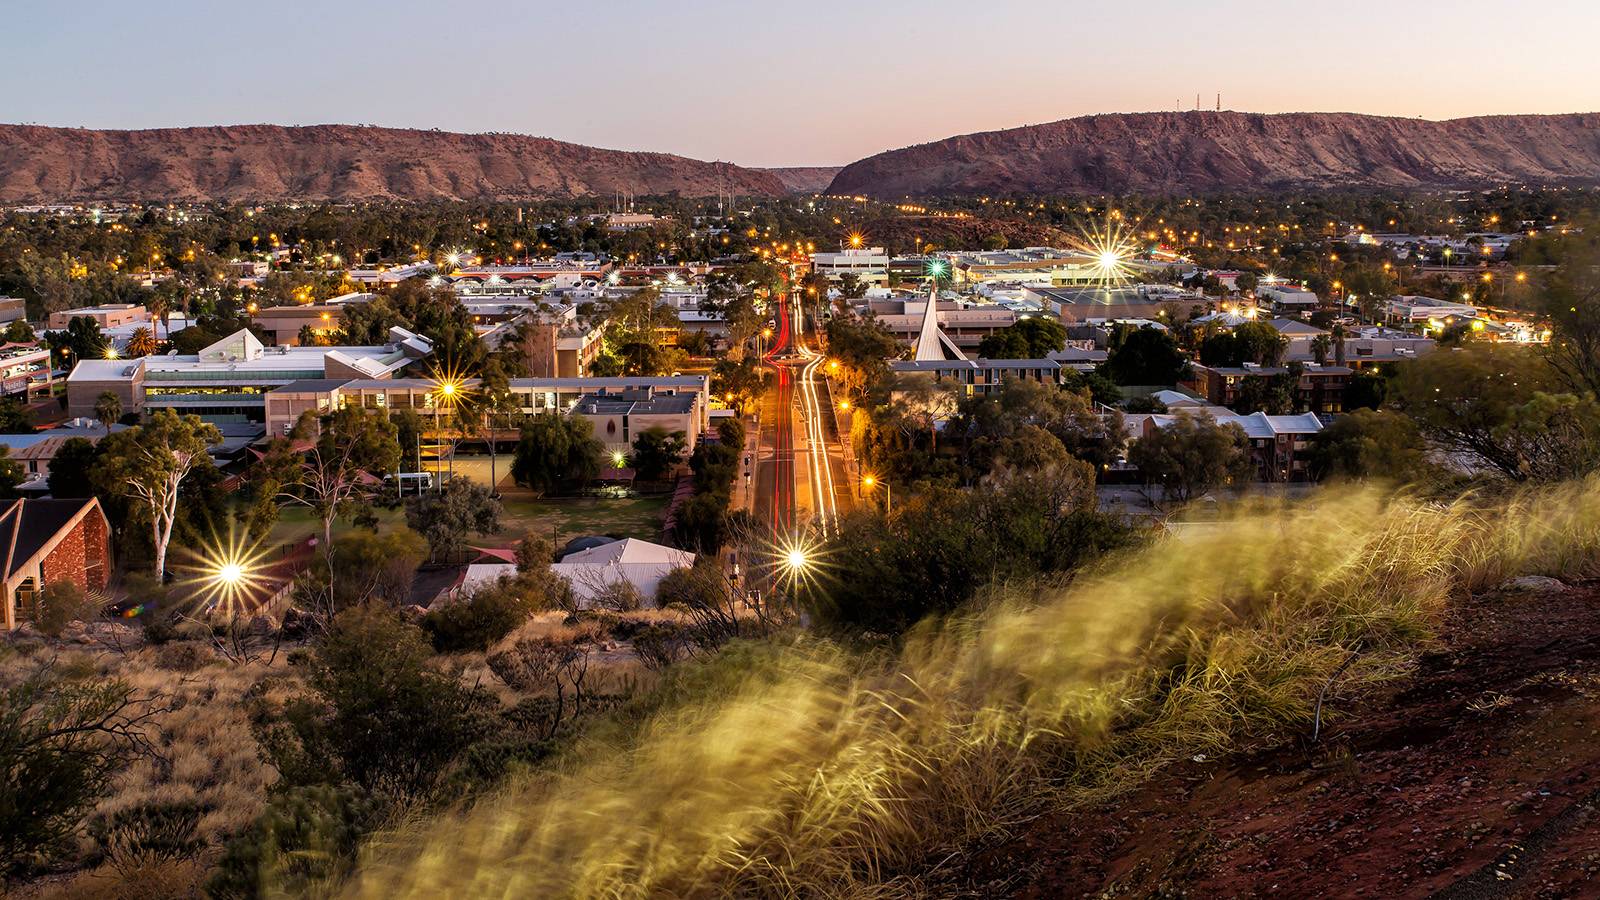
POLYGON ((773 389, 762 400, 755 466, 755 516, 771 525, 776 543, 813 528, 832 533, 851 501, 822 376, 826 356, 814 343, 798 304, 781 298, 773 346, 762 357, 773 370, 773 389))

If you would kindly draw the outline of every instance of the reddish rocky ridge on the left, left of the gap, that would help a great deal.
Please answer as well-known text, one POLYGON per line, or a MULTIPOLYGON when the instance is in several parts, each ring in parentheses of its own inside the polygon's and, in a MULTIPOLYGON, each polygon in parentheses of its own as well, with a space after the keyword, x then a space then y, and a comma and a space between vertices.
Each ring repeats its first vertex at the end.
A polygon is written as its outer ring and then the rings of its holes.
POLYGON ((0 202, 488 200, 634 194, 781 195, 778 176, 670 154, 525 135, 354 125, 91 131, 0 125, 0 202))

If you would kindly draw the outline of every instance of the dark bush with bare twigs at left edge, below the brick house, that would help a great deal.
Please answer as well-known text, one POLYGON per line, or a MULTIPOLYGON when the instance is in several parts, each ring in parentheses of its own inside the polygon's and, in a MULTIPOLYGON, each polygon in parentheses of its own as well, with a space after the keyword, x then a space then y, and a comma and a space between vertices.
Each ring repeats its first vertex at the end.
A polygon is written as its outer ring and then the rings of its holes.
POLYGON ((74 847, 83 817, 139 754, 152 698, 114 679, 64 679, 48 660, 0 685, 0 882, 74 847))

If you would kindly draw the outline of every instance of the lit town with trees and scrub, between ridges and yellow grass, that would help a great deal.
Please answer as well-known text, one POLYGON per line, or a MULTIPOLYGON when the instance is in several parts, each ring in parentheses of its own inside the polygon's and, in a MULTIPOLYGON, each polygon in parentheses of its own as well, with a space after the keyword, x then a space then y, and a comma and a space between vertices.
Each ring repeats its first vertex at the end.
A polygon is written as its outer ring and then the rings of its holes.
POLYGON ((5 211, 8 727, 77 753, 8 876, 310 890, 741 642, 1323 504, 1411 533, 1360 485, 1526 527, 1600 460, 1581 191, 582 207, 5 211))

